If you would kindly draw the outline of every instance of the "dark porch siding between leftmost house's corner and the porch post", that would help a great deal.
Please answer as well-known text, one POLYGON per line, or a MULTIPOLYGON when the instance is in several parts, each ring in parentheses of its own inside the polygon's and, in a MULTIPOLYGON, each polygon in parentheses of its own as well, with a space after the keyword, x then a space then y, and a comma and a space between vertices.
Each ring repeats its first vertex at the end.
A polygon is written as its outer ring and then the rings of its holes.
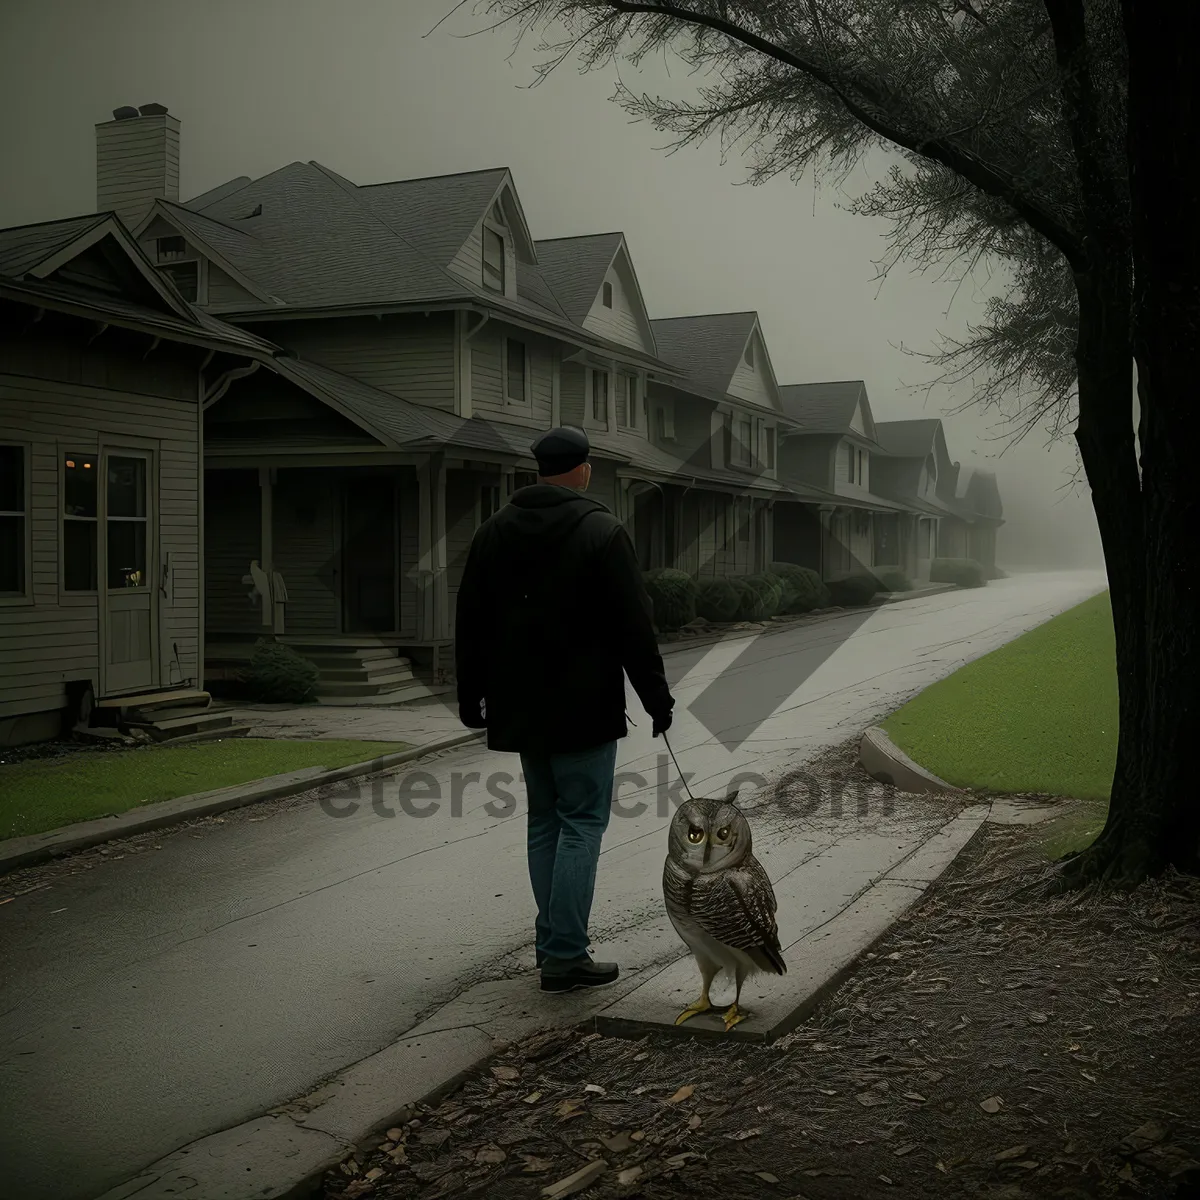
POLYGON ((204 473, 204 630, 222 634, 268 634, 263 606, 250 600, 253 559, 262 563, 263 493, 257 469, 204 473))

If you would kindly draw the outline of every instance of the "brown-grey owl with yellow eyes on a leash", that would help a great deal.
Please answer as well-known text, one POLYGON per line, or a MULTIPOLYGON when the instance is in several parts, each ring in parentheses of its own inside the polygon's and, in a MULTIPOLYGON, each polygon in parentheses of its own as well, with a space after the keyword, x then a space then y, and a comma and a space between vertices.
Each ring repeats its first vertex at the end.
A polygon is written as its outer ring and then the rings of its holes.
POLYGON ((737 994, 725 1032, 745 1019, 742 985, 760 972, 786 974, 775 924, 775 889, 751 853, 750 822, 733 803, 689 799, 671 821, 662 896, 676 932, 696 958, 703 989, 676 1025, 708 1012, 708 989, 722 967, 737 994))

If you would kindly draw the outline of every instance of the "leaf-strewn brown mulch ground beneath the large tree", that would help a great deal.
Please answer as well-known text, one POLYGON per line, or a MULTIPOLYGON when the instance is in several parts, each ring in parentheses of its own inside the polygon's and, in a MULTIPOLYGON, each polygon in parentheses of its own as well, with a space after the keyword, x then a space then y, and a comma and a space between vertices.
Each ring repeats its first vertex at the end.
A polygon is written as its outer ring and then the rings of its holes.
POLYGON ((1200 881, 1048 899, 986 827, 770 1046, 546 1032, 325 1200, 1200 1196, 1200 881))

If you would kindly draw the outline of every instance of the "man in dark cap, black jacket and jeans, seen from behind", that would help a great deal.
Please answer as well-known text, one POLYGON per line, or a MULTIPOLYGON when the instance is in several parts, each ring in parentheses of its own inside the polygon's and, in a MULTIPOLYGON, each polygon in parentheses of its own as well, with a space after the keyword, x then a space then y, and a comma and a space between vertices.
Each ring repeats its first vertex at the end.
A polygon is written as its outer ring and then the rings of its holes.
POLYGON ((542 991, 614 983, 593 962, 588 917, 608 826, 625 680, 671 727, 674 701, 634 545, 599 500, 587 434, 566 426, 530 448, 538 482, 486 521, 458 587, 458 715, 491 750, 521 755, 529 798, 529 881, 542 991))

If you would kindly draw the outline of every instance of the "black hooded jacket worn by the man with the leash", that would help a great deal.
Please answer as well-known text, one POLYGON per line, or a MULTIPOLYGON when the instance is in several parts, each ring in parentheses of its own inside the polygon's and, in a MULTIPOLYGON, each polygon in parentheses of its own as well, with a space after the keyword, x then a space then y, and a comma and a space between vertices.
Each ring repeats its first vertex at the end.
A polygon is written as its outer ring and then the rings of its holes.
POLYGON ((470 545, 455 618, 458 713, 492 750, 614 742, 622 668, 652 716, 673 706, 629 534, 599 500, 523 487, 470 545), (486 702, 486 718, 480 718, 486 702))

